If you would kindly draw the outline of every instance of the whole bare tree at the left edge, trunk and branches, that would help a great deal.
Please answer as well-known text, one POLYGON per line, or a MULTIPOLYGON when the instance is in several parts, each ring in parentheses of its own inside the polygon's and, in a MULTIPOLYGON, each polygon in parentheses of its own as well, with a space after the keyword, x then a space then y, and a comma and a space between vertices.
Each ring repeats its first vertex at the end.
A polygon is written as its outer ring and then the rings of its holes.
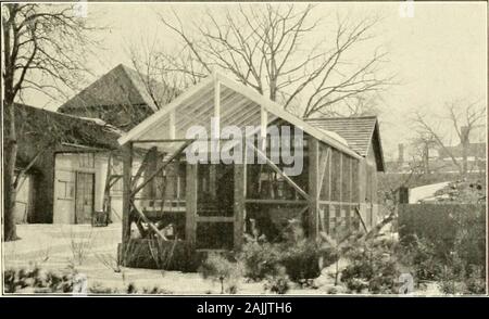
MULTIPOLYGON (((72 5, 10 3, 2 5, 3 54, 3 240, 16 239, 14 208, 20 112, 15 101, 25 90, 55 97, 74 88, 87 72, 85 59, 92 44, 87 18, 76 16, 72 5)), ((36 161, 35 156, 33 161, 36 161)), ((33 162, 32 162, 33 163, 33 162)), ((27 165, 27 168, 32 164, 27 165)))

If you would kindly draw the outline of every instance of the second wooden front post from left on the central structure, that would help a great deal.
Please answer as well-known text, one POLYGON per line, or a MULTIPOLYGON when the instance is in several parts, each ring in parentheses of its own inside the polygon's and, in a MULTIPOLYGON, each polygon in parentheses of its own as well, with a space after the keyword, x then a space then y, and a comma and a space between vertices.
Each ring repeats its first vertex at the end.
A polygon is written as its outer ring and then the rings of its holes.
POLYGON ((187 163, 185 240, 192 245, 196 243, 197 230, 197 164, 187 163))

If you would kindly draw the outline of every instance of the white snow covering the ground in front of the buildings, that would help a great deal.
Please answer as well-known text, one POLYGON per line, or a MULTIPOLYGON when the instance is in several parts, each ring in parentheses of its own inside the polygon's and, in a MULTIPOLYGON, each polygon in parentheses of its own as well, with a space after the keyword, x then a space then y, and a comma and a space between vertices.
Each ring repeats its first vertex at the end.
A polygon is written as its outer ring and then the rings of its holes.
MULTIPOLYGON (((218 294, 221 285, 211 280, 204 280, 199 273, 184 273, 179 271, 161 271, 153 269, 137 269, 122 267, 120 272, 114 271, 117 244, 121 241, 121 225, 109 227, 91 227, 89 225, 18 225, 17 235, 21 240, 3 243, 3 265, 5 268, 30 268, 34 265, 43 270, 71 271, 74 266, 78 273, 87 277, 88 285, 124 291, 129 283, 138 289, 152 289, 154 286, 173 294, 218 294), (83 260, 75 257, 83 247, 83 260), (109 261, 109 263, 104 263, 109 261), (111 264, 111 265, 108 265, 111 264), (111 267, 112 266, 112 267, 111 267)), ((348 265, 340 259, 339 269, 348 265)), ((291 286, 289 294, 327 294, 331 290, 342 294, 342 286, 334 285, 336 265, 323 269, 322 275, 314 280, 316 289, 291 286)), ((239 283, 239 294, 265 294, 263 282, 248 282, 244 279, 239 283)), ((436 286, 429 286, 415 294, 439 294, 436 286)))

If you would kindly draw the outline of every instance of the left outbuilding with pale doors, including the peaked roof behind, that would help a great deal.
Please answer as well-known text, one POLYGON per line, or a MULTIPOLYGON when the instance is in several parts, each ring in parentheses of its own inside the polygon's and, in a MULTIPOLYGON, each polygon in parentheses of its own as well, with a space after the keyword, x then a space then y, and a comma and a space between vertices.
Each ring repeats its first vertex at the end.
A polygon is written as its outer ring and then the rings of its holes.
MULTIPOLYGON (((120 220, 123 183, 117 138, 175 95, 175 90, 120 64, 58 112, 17 104, 17 118, 26 118, 28 127, 20 141, 17 171, 39 148, 47 150, 18 189, 16 221, 89 224, 93 212, 108 207, 111 220, 120 220)), ((136 169, 138 163, 135 158, 136 169)))

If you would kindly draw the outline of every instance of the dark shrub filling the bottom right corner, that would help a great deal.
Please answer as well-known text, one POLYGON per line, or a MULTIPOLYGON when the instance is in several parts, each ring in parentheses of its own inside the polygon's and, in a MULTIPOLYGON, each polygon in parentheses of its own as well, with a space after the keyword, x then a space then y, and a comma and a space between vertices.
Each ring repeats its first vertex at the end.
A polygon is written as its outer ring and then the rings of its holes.
POLYGON ((417 280, 438 281, 446 294, 485 293, 484 212, 455 212, 450 218, 455 226, 450 241, 435 235, 406 235, 399 256, 413 268, 417 280))

